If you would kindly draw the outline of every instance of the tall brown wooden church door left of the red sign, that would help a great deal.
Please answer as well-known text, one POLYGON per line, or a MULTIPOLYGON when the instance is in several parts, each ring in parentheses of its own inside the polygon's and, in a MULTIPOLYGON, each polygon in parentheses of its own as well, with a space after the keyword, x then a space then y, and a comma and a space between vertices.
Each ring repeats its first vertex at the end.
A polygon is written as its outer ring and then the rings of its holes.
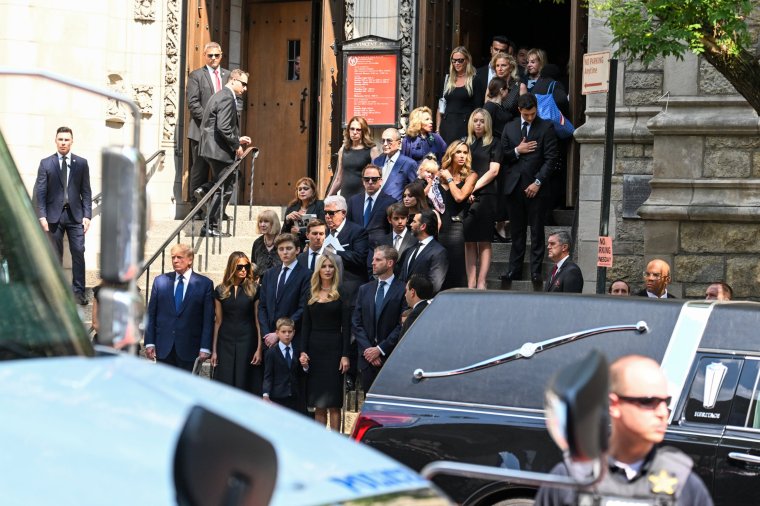
POLYGON ((253 203, 283 205, 308 173, 311 2, 249 2, 248 12, 245 70, 251 75, 244 134, 261 150, 253 203))

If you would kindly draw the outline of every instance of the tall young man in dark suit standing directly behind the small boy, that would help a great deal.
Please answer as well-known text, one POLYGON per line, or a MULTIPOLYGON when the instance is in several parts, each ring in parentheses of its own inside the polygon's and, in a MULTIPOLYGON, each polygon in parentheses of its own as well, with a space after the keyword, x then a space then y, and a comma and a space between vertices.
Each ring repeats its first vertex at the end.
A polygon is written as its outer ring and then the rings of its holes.
POLYGON ((268 269, 261 279, 259 299, 259 329, 267 347, 277 342, 277 320, 290 318, 296 325, 296 341, 301 328, 301 317, 311 293, 311 271, 298 264, 296 238, 293 234, 280 234, 274 240, 282 265, 268 269))

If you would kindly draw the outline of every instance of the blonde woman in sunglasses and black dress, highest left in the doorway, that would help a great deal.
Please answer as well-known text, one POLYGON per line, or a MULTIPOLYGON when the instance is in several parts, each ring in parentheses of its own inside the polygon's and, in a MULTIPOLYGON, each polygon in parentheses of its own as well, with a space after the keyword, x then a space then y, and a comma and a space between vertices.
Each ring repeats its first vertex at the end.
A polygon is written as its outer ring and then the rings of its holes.
POLYGON ((486 90, 482 88, 475 79, 470 52, 463 46, 455 47, 436 117, 438 133, 446 144, 467 137, 467 119, 472 111, 483 106, 486 90))

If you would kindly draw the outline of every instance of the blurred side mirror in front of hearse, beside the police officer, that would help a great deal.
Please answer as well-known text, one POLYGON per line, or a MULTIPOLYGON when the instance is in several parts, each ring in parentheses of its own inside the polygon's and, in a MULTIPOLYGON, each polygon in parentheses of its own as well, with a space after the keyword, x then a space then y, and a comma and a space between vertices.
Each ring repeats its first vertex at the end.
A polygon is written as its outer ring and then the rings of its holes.
POLYGON ((592 350, 560 370, 546 388, 546 427, 575 462, 599 459, 607 450, 608 370, 604 355, 592 350))

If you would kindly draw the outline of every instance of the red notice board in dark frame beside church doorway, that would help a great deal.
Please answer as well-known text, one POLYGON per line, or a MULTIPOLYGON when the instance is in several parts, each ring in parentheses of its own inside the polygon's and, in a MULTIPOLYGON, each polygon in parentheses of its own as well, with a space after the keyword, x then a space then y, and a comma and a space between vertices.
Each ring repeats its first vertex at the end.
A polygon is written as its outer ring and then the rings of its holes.
POLYGON ((368 36, 343 44, 343 121, 362 116, 371 127, 395 127, 399 112, 401 45, 368 36))

